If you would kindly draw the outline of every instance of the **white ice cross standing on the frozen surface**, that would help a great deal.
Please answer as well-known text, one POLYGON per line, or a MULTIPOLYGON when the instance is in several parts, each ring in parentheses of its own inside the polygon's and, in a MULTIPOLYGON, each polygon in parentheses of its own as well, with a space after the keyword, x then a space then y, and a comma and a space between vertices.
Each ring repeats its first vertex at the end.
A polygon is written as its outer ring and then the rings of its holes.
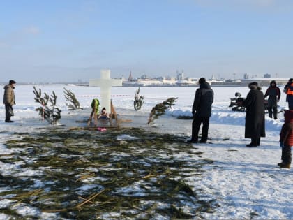
POLYGON ((105 107, 107 112, 111 111, 111 87, 122 86, 121 79, 111 79, 110 70, 100 71, 100 80, 89 80, 89 86, 100 87, 100 108, 105 107))

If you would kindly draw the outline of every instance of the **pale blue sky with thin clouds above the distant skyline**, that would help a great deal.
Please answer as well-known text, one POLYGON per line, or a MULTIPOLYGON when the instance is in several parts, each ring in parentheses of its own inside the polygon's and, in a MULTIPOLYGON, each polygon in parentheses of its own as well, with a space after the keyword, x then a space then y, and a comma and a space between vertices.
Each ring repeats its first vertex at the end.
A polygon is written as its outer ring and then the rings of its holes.
POLYGON ((0 0, 0 81, 292 78, 292 23, 291 0, 0 0))

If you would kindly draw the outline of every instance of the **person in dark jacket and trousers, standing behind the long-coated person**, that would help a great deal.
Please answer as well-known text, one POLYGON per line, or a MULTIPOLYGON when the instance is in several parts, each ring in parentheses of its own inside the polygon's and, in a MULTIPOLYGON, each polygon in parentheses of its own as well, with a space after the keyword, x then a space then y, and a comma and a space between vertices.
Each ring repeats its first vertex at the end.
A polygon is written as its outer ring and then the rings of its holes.
POLYGON ((280 88, 277 87, 276 81, 271 81, 269 88, 266 89, 266 94, 264 94, 264 98, 269 96, 268 99, 268 111, 269 117, 273 119, 278 119, 278 107, 277 102, 280 101, 280 88))

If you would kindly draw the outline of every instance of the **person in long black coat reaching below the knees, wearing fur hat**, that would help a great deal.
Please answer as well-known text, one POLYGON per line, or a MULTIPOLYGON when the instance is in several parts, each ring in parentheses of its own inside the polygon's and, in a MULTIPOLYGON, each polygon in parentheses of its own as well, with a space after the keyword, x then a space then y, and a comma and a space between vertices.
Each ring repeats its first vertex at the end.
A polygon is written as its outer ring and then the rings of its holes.
POLYGON ((262 88, 257 82, 250 82, 248 85, 250 91, 243 105, 246 107, 245 118, 245 138, 250 138, 251 142, 246 147, 260 146, 260 137, 265 137, 264 123, 264 94, 260 91, 262 88))

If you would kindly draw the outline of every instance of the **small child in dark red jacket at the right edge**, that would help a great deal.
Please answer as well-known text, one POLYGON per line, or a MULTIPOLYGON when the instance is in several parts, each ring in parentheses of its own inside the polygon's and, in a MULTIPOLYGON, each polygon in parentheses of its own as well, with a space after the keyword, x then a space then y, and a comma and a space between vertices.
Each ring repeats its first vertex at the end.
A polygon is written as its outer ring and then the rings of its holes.
POLYGON ((284 113, 284 124, 280 131, 280 147, 282 147, 282 162, 280 168, 290 168, 292 161, 291 147, 293 146, 293 110, 284 113))

